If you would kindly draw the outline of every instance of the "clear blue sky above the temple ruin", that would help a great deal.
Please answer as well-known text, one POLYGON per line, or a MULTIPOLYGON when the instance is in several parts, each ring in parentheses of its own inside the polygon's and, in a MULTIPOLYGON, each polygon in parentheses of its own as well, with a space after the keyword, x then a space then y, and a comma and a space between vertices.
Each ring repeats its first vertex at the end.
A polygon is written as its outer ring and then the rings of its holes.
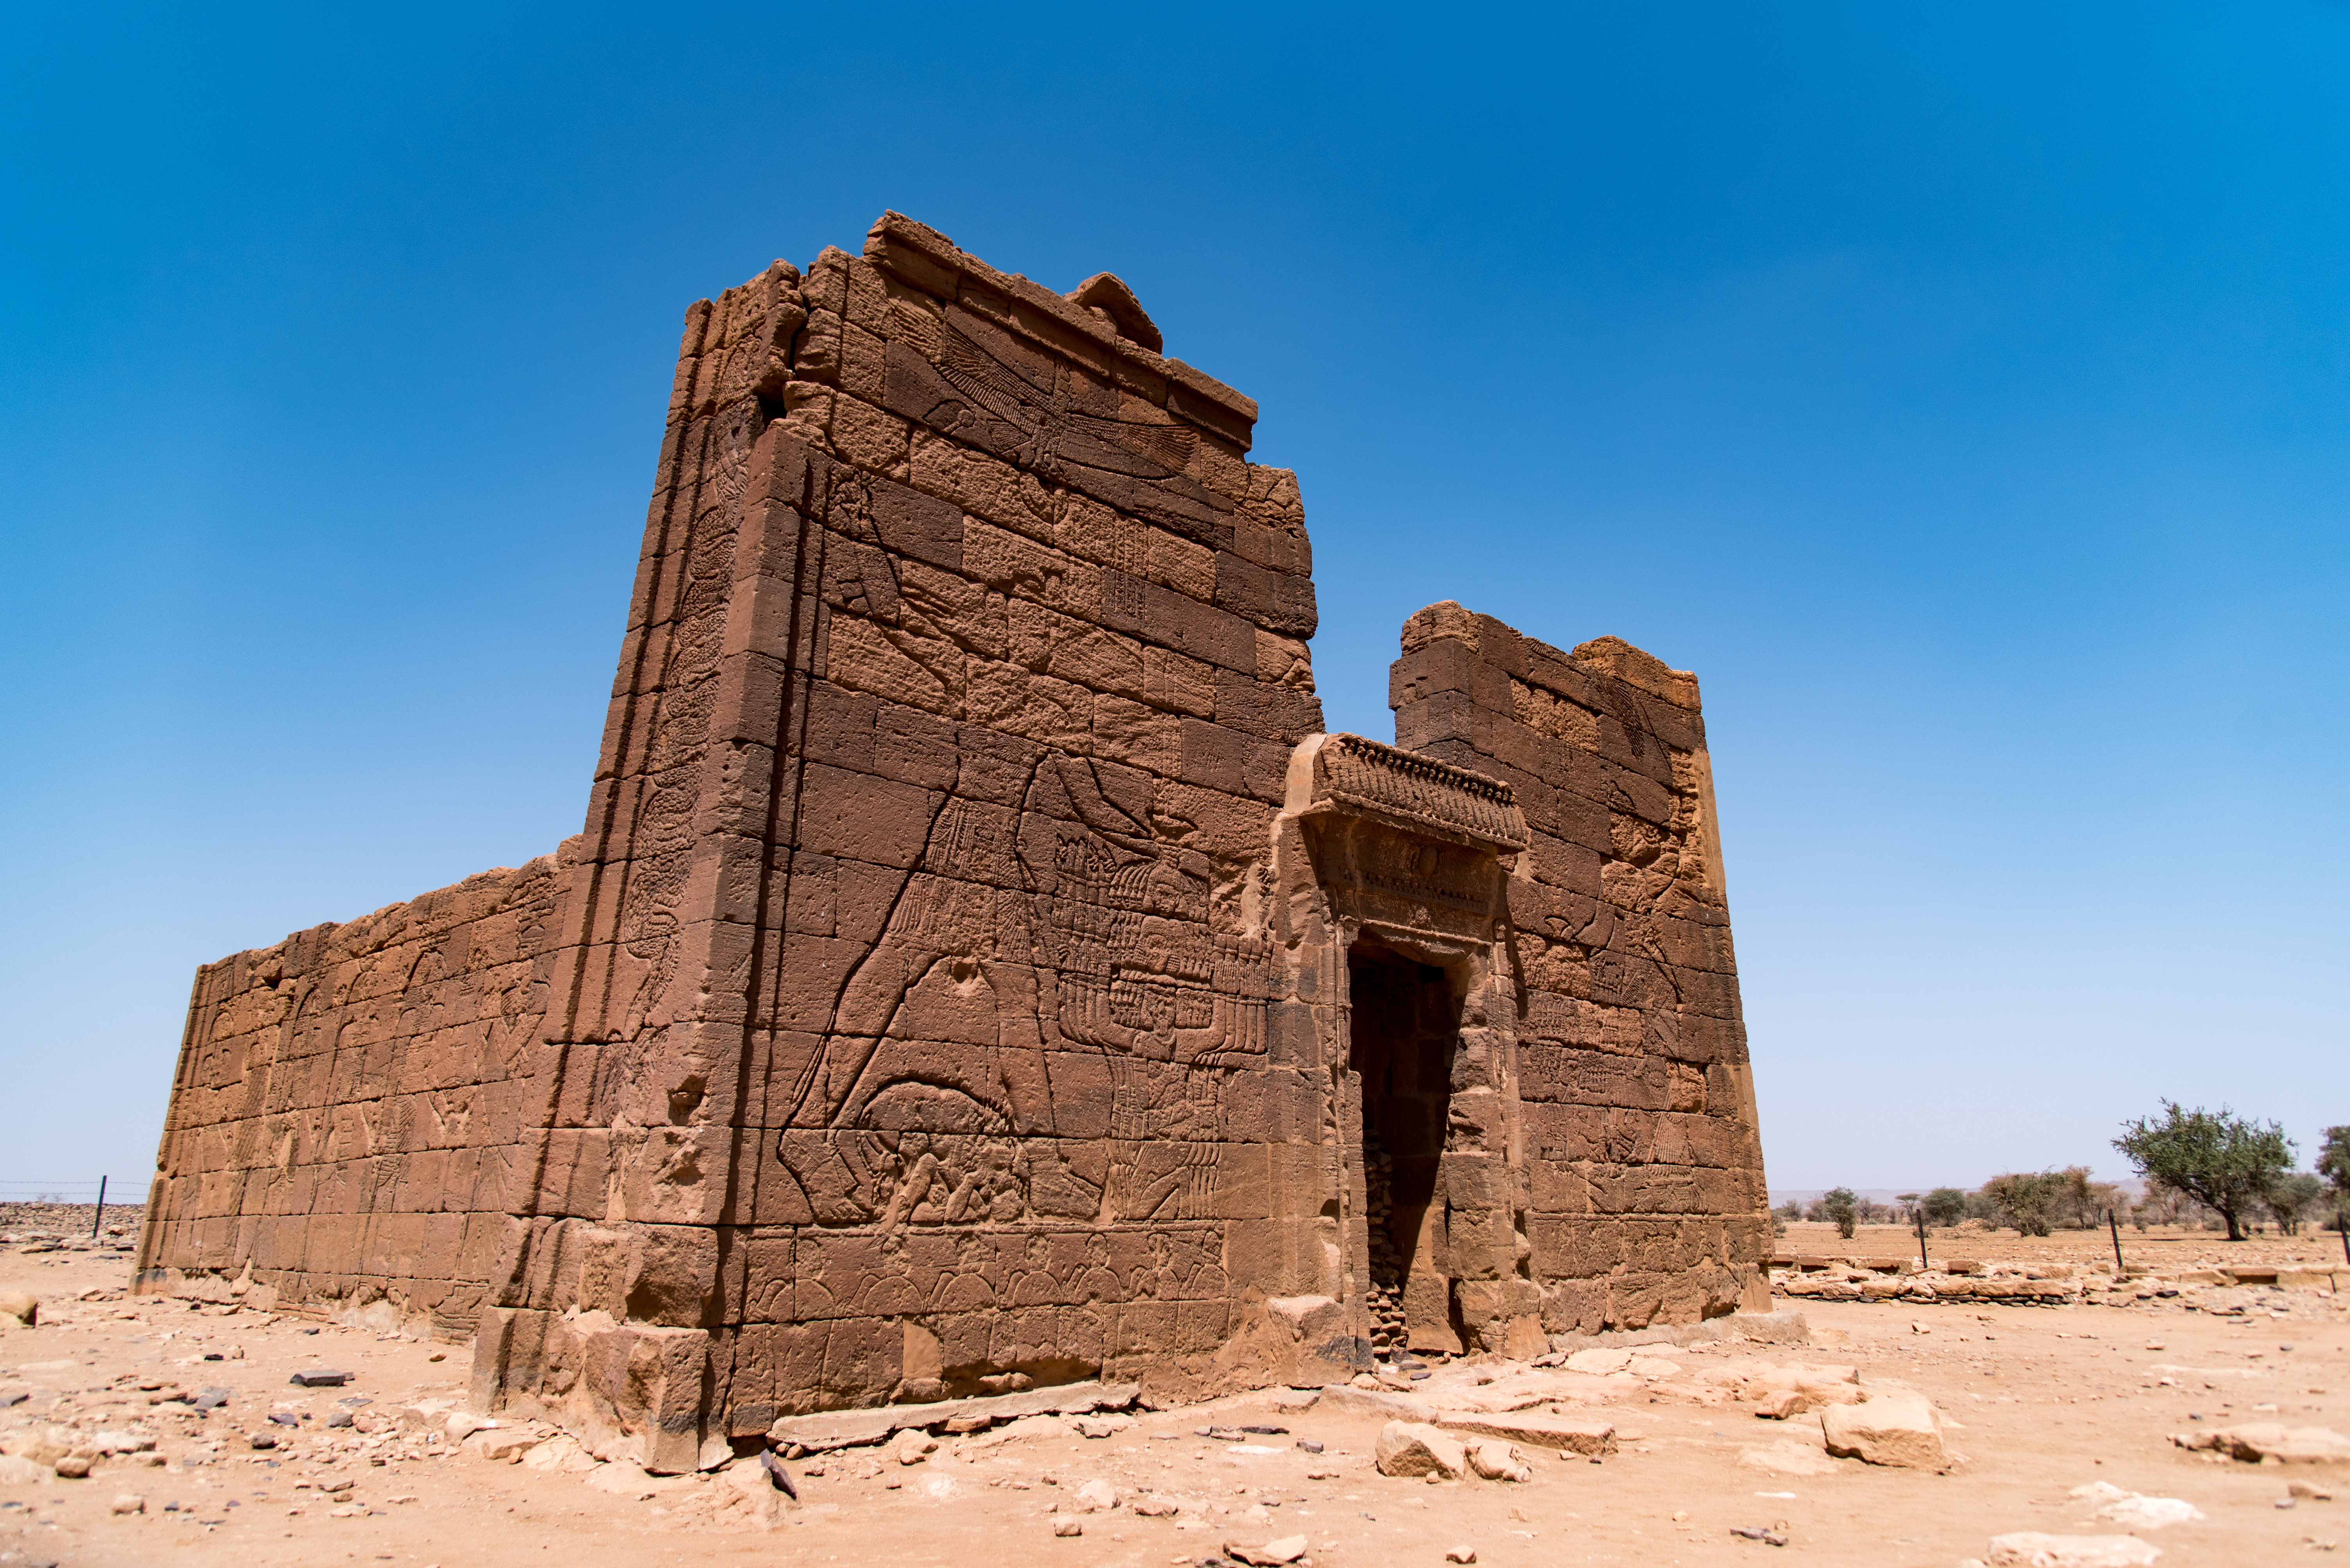
MULTIPOLYGON (((881 209, 1459 599, 1699 671, 1774 1188, 2350 1122, 2350 12, 19 9, 0 1181, 197 962, 576 831, 677 322, 881 209)), ((0 1188, 7 1192, 9 1188, 0 1188)))

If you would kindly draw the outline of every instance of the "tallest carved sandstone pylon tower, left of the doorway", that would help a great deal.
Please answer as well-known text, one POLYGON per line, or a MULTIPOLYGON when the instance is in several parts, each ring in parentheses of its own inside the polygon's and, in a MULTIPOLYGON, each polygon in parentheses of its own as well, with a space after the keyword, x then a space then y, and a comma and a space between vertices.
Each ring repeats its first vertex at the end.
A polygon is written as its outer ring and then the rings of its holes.
POLYGON ((1166 1376, 1288 1282, 1325 1155, 1262 906, 1311 561, 1255 404, 1154 343, 902 218, 696 307, 508 1394, 599 1399, 573 1307, 703 1333, 743 1432, 1166 1376))

